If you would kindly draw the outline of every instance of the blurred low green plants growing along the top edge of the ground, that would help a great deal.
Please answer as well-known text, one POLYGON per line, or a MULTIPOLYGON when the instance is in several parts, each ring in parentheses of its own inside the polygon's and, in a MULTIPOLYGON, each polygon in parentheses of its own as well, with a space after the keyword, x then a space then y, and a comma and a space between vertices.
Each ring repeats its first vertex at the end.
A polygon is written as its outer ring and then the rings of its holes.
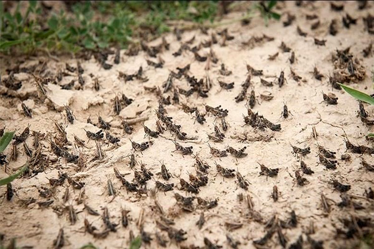
MULTIPOLYGON (((219 13, 218 1, 82 1, 59 13, 43 9, 40 1, 24 2, 26 11, 15 4, 9 13, 0 1, 0 52, 13 55, 126 48, 145 33, 152 39, 171 31, 168 21, 209 24, 219 13)), ((272 11, 275 4, 256 5, 266 23, 280 17, 272 11)))

